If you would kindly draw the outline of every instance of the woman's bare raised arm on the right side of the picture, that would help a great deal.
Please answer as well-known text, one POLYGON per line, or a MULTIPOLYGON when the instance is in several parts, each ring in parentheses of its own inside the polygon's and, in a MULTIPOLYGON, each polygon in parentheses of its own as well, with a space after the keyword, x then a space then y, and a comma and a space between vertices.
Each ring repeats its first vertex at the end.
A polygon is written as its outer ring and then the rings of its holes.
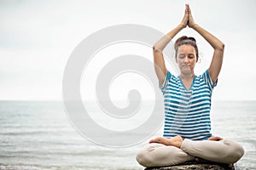
POLYGON ((219 41, 217 37, 214 37, 210 32, 206 31, 201 26, 195 24, 190 8, 189 8, 189 27, 197 31, 199 34, 201 34, 201 36, 204 37, 214 49, 212 62, 208 70, 210 77, 212 79, 212 83, 214 84, 218 79, 218 74, 221 70, 221 66, 223 63, 224 43, 219 41))

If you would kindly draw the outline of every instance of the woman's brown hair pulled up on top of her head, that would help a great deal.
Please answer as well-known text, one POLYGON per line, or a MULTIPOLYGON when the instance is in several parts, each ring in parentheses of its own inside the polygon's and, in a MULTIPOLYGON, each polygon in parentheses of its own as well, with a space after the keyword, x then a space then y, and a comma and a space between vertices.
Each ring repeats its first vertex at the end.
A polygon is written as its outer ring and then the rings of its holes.
POLYGON ((199 55, 198 55, 198 48, 197 48, 196 41, 195 41, 194 37, 183 36, 183 37, 177 38, 177 40, 176 40, 176 42, 174 44, 175 57, 177 57, 177 49, 179 48, 179 46, 182 46, 183 44, 191 45, 192 47, 195 48, 196 61, 197 61, 199 55))

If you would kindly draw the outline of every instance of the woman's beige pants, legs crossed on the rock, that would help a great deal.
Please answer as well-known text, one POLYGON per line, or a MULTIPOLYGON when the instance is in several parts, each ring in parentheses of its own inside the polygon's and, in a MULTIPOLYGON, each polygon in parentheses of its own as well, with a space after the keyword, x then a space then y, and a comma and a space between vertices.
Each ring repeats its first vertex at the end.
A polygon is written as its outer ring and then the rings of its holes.
POLYGON ((232 140, 184 139, 181 149, 165 144, 147 144, 138 152, 136 159, 144 167, 164 167, 192 161, 195 157, 219 163, 235 163, 243 154, 241 145, 232 140))

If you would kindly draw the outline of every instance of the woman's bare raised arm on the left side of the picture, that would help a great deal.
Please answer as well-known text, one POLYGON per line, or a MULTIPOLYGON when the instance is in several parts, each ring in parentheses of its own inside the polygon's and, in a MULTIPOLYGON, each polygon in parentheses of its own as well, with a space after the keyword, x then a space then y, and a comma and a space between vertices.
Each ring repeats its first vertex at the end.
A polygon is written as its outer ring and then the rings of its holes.
POLYGON ((172 31, 168 32, 166 36, 160 38, 158 42, 154 44, 154 71, 160 84, 163 84, 166 78, 167 69, 165 64, 165 59, 163 56, 163 49, 166 48, 166 45, 172 40, 173 37, 177 35, 179 31, 185 28, 189 20, 189 6, 186 5, 185 14, 183 16, 182 22, 175 27, 172 31))

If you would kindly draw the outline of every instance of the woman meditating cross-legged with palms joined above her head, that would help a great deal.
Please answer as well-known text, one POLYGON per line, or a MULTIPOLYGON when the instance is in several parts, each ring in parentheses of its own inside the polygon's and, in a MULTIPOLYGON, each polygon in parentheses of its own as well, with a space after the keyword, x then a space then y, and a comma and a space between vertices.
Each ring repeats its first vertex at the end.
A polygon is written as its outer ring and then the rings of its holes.
POLYGON ((235 163, 244 154, 240 144, 212 136, 210 109, 212 89, 224 57, 224 43, 195 24, 189 5, 182 22, 154 45, 155 72, 165 98, 164 137, 151 139, 137 154, 144 167, 171 166, 196 157, 219 163, 235 163), (178 77, 167 71, 163 49, 175 35, 189 26, 197 31, 214 49, 210 67, 195 76, 198 48, 193 37, 180 37, 175 42, 175 58, 180 69, 178 77))

